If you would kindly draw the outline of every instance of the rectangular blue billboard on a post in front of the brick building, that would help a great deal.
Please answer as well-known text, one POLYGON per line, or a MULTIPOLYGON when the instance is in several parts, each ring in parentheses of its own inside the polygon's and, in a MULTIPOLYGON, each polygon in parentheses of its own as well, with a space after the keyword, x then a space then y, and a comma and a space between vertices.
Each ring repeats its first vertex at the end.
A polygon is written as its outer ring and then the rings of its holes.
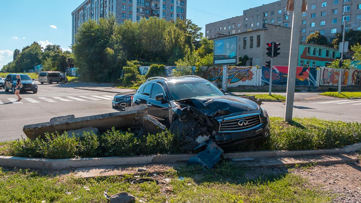
POLYGON ((238 64, 238 35, 213 40, 213 65, 238 64))

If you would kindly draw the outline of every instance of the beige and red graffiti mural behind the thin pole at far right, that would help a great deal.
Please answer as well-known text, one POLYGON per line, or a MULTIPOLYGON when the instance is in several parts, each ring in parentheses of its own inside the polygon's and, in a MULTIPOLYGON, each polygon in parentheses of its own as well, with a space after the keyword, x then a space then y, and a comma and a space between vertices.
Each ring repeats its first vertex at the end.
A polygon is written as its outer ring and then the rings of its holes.
MULTIPOLYGON (((338 86, 340 70, 335 68, 321 68, 321 79, 319 85, 338 86)), ((345 86, 348 82, 348 70, 342 70, 341 85, 345 86)))

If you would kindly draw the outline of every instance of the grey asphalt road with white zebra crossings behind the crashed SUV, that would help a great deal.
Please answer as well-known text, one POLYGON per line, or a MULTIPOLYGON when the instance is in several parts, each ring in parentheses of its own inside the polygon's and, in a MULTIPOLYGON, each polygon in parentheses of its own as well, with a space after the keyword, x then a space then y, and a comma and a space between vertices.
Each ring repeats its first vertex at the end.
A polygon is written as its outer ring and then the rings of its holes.
MULTIPOLYGON (((21 103, 11 92, 0 89, 0 141, 25 137, 24 125, 48 122, 50 118, 74 114, 75 117, 115 112, 111 107, 115 93, 78 90, 74 87, 95 89, 112 88, 87 83, 38 85, 38 93, 22 93, 21 103)), ((119 89, 118 89, 119 90, 119 89)), ((121 90, 129 91, 129 90, 121 90)), ((264 102, 270 116, 284 116, 284 103, 264 102)), ((293 116, 317 117, 331 120, 361 122, 360 100, 323 100, 295 102, 293 116), (320 103, 327 102, 327 103, 320 103), (347 103, 345 103, 347 102, 347 103), (338 104, 342 103, 342 104, 338 104)))

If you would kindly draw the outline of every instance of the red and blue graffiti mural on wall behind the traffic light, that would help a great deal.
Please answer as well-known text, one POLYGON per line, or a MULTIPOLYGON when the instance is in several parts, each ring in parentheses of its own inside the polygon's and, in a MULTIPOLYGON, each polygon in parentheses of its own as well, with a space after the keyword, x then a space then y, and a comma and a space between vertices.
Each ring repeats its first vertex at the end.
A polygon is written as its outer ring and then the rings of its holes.
MULTIPOLYGON (((312 67, 296 67, 296 85, 317 86, 317 70, 312 67)), ((272 85, 287 85, 288 66, 273 66, 272 85)), ((269 85, 270 68, 262 66, 262 85, 269 85)))

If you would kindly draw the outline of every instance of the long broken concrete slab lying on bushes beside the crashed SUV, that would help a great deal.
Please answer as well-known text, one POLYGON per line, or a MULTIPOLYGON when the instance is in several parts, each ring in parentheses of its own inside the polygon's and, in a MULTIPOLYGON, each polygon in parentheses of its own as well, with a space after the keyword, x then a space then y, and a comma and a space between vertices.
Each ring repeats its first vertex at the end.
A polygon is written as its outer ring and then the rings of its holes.
POLYGON ((64 131, 94 127, 106 131, 112 127, 120 129, 144 128, 149 133, 158 133, 165 126, 147 116, 147 106, 127 107, 126 111, 75 118, 74 115, 51 118, 49 122, 25 125, 23 131, 30 139, 44 136, 44 133, 64 133, 64 131))

